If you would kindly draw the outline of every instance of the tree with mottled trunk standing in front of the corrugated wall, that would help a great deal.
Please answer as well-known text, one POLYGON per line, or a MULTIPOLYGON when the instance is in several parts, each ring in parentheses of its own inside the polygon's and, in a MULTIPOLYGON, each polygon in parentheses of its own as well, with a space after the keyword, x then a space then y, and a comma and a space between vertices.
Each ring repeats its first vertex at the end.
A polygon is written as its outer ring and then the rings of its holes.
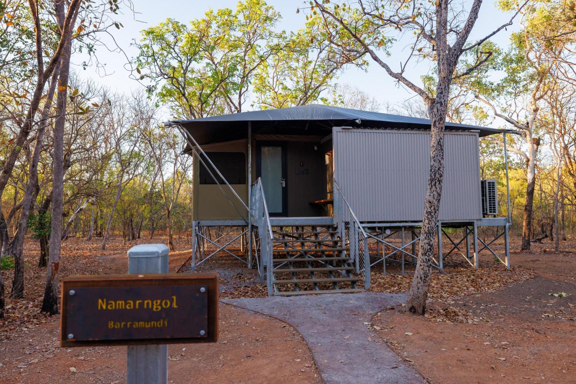
POLYGON ((418 262, 407 302, 410 311, 422 315, 426 311, 444 179, 444 127, 450 85, 455 78, 466 76, 486 63, 490 54, 478 48, 512 22, 510 20, 501 25, 482 39, 468 42, 481 5, 482 0, 474 0, 467 10, 467 5, 448 0, 427 3, 415 0, 336 3, 314 0, 309 7, 308 17, 322 18, 329 42, 339 47, 342 54, 369 56, 399 84, 422 97, 427 106, 431 120, 430 176, 426 187, 418 262), (408 57, 400 64, 399 70, 392 69, 386 58, 386 48, 393 43, 392 35, 409 47, 408 57), (456 70, 461 55, 467 51, 475 52, 475 62, 463 71, 456 70), (411 60, 429 61, 435 66, 434 88, 410 80, 407 70, 411 60))

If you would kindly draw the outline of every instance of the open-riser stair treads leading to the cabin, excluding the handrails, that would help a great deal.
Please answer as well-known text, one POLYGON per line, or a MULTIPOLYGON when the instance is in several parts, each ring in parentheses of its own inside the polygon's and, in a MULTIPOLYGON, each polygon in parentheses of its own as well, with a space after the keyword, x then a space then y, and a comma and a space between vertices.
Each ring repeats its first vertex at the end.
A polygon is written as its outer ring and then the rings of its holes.
POLYGON ((332 227, 274 227, 272 287, 275 296, 358 292, 359 277, 332 227))

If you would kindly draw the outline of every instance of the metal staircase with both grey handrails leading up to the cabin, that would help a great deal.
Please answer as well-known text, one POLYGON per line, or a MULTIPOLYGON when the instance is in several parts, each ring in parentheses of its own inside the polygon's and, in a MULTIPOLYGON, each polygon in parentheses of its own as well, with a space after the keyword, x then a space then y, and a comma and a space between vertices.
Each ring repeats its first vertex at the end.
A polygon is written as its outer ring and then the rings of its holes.
POLYGON ((361 275, 365 288, 370 286, 366 232, 338 185, 334 185, 334 217, 273 220, 268 214, 262 180, 252 185, 251 222, 255 226, 256 262, 260 277, 266 276, 268 295, 363 291, 357 287, 361 275))

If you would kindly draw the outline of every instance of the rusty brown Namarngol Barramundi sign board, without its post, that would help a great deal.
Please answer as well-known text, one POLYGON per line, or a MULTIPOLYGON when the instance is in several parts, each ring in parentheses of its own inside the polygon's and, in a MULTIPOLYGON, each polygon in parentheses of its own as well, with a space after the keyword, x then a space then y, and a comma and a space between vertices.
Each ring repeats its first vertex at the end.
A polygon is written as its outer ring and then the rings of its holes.
POLYGON ((217 338, 216 273, 62 280, 62 347, 215 342, 217 338))

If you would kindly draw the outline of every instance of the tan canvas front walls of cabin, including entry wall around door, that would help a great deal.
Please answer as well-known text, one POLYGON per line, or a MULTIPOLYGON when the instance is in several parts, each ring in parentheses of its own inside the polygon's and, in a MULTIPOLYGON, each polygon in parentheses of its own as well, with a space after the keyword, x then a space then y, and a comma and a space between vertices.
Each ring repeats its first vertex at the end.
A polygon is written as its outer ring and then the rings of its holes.
MULTIPOLYGON (((327 212, 310 202, 325 199, 332 175, 327 172, 324 155, 332 142, 321 143, 319 135, 256 135, 252 140, 252 180, 260 176, 259 150, 262 146, 281 146, 285 154, 286 205, 285 216, 317 217, 327 212)), ((230 186, 248 205, 248 140, 233 140, 202 145, 206 155, 217 165, 230 186)), ((193 164, 194 220, 244 220, 247 211, 228 188, 222 188, 207 172, 198 156, 193 164), (222 191, 223 190, 223 191, 222 191), (226 192, 228 197, 226 197, 226 192)), ((206 162, 206 159, 204 159, 206 162)), ((210 169, 210 167, 209 167, 210 169)), ((215 172, 212 172, 214 176, 215 172)), ((223 185, 223 180, 217 177, 223 185)), ((280 179, 278 179, 278 182, 280 179)), ((330 187, 331 188, 331 187, 330 187)))

